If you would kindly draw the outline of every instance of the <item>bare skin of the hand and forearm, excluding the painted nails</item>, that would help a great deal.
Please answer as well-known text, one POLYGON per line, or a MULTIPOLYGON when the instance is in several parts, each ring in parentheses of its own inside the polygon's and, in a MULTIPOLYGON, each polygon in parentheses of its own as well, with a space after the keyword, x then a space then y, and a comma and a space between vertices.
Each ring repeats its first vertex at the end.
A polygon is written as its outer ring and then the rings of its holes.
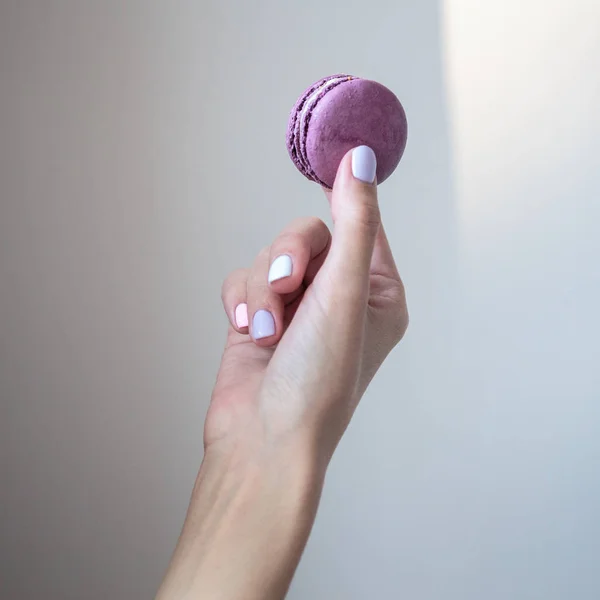
POLYGON ((230 326, 204 460, 158 600, 285 597, 331 456, 406 331, 377 186, 353 176, 351 152, 326 193, 333 235, 318 219, 294 221, 223 285, 230 326), (282 254, 292 275, 269 284, 282 254), (244 302, 249 329, 235 323, 244 302), (252 316, 261 309, 274 315, 276 334, 257 340, 252 316))

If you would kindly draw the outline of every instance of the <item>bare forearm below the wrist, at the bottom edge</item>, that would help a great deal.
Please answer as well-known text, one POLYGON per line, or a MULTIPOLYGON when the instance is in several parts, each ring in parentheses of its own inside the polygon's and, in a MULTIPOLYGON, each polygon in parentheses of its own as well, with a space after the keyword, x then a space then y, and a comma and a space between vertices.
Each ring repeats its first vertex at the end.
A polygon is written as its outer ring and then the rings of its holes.
POLYGON ((323 470, 306 449, 209 450, 157 600, 280 600, 314 522, 323 470))

